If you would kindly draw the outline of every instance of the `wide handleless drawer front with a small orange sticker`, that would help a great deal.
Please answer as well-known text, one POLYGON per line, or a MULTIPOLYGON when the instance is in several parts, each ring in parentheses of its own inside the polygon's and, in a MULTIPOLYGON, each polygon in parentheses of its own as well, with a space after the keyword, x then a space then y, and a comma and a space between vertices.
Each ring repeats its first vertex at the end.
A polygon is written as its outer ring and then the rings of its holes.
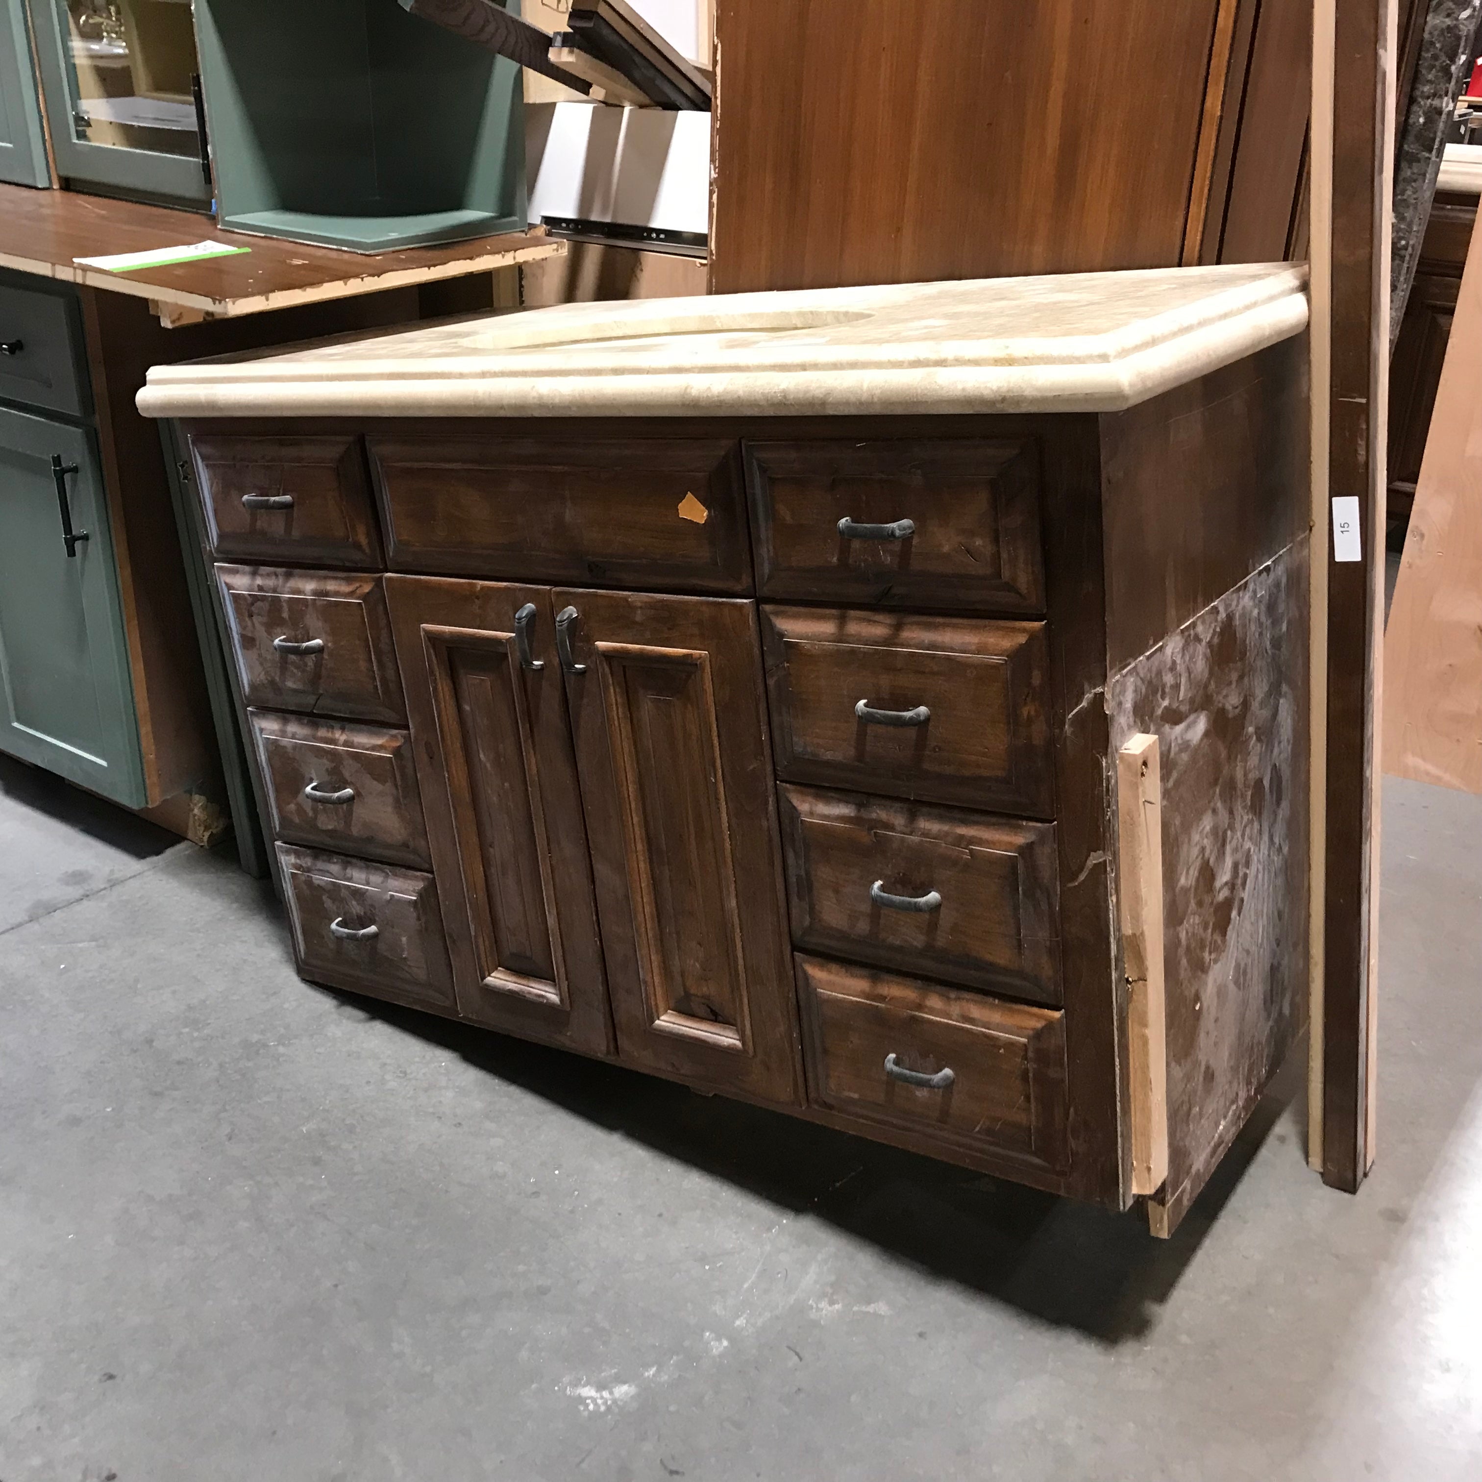
POLYGON ((751 590, 741 453, 708 440, 370 439, 397 571, 751 590))

